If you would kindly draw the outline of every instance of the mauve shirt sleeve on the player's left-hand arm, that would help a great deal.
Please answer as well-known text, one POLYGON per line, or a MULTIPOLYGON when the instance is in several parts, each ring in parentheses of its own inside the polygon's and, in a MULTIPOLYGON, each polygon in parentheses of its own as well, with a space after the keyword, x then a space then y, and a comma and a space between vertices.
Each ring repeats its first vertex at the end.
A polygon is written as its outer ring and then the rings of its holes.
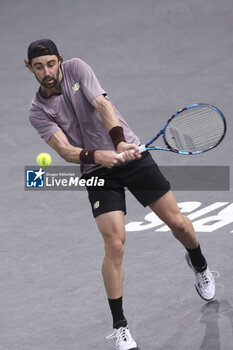
POLYGON ((59 126, 41 110, 31 108, 29 111, 29 120, 45 142, 47 142, 55 132, 61 130, 59 126))

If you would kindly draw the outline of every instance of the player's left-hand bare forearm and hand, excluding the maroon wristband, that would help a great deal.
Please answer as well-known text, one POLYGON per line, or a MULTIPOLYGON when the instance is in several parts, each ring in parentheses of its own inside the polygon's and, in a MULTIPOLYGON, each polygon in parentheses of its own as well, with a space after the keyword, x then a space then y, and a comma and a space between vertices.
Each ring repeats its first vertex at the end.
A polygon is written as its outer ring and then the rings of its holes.
MULTIPOLYGON (((82 148, 72 146, 62 130, 56 131, 47 141, 63 159, 70 163, 80 164, 80 153, 82 148)), ((95 163, 106 168, 112 168, 122 163, 122 158, 114 151, 96 150, 94 153, 95 163)))

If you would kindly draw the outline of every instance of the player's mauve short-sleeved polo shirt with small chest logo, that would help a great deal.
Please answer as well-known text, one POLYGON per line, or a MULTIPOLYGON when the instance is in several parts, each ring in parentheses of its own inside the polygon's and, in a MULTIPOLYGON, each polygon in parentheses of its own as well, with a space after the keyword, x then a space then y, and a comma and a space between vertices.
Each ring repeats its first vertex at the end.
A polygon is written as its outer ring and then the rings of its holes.
MULTIPOLYGON (((115 150, 101 117, 91 105, 98 95, 107 95, 100 86, 92 68, 79 58, 65 61, 61 65, 61 93, 43 98, 36 93, 29 119, 41 138, 47 142, 50 137, 62 130, 73 146, 115 150)), ((107 98, 107 97, 106 97, 107 98)), ((128 143, 140 144, 140 140, 113 106, 128 143)), ((82 172, 89 173, 101 167, 97 164, 82 165, 82 172)))

